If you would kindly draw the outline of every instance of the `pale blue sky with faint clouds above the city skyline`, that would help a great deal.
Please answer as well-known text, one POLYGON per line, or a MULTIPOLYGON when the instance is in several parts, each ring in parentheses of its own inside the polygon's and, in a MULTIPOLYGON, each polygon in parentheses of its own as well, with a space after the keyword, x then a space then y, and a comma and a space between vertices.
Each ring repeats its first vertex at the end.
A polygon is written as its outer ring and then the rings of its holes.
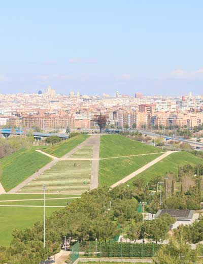
POLYGON ((0 92, 203 93, 203 2, 2 1, 0 92))

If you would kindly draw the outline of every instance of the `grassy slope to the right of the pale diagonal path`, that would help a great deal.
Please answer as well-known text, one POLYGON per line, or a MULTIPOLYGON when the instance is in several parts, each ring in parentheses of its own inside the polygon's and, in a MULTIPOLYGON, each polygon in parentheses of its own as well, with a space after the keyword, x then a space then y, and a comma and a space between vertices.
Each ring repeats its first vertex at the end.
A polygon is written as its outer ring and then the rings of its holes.
MULTIPOLYGON (((196 164, 202 164, 203 159, 185 151, 172 153, 136 177, 142 178, 147 182, 154 176, 164 175, 166 172, 173 172, 178 175, 178 166, 184 166, 188 163, 195 166, 196 164)), ((132 182, 133 179, 126 182, 126 184, 132 184, 132 182)))

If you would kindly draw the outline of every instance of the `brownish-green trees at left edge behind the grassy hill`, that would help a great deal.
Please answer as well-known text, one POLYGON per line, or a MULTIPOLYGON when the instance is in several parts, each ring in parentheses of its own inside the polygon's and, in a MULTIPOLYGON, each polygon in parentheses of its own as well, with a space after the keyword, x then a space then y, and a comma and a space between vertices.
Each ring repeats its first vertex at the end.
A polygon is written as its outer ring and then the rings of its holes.
POLYGON ((0 158, 12 154, 21 148, 30 147, 34 142, 32 136, 14 136, 8 139, 0 138, 0 158))

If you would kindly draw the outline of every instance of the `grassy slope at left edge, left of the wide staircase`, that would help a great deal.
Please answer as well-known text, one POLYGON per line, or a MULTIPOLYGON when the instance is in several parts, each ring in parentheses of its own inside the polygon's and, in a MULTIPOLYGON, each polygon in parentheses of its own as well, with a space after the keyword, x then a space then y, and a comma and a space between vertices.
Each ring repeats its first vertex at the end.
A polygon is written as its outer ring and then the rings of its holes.
POLYGON ((21 149, 1 159, 0 182, 9 191, 52 159, 32 149, 21 149))

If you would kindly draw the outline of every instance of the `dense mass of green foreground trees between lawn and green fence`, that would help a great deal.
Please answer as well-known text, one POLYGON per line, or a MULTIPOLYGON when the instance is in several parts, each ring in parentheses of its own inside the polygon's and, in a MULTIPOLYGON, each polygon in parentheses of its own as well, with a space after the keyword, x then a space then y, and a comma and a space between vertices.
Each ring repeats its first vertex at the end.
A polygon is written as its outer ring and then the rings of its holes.
POLYGON ((156 242, 163 239, 174 220, 162 216, 143 224, 138 207, 132 190, 123 185, 112 190, 100 188, 86 192, 81 199, 47 218, 46 248, 43 247, 43 224, 37 222, 33 227, 14 230, 11 246, 0 247, 0 263, 39 264, 59 251, 64 236, 73 242, 94 241, 95 238, 107 242, 128 230, 134 240, 135 236, 156 242))

